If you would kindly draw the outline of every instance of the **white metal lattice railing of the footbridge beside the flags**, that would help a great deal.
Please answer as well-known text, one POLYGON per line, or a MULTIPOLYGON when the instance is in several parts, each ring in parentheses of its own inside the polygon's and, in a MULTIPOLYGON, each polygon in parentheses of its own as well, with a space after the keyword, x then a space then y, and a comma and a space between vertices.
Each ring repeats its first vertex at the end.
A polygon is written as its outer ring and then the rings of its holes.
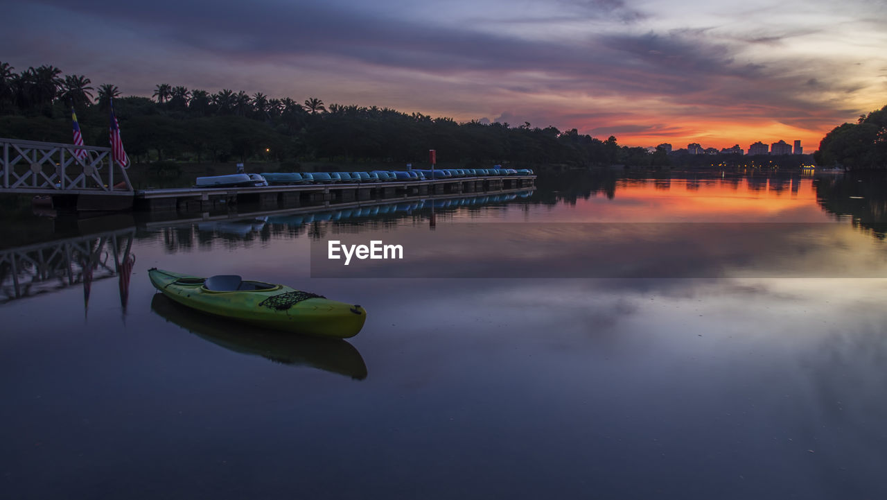
POLYGON ((110 147, 2 139, 0 193, 133 194, 110 147), (85 151, 85 157, 77 155, 85 151))

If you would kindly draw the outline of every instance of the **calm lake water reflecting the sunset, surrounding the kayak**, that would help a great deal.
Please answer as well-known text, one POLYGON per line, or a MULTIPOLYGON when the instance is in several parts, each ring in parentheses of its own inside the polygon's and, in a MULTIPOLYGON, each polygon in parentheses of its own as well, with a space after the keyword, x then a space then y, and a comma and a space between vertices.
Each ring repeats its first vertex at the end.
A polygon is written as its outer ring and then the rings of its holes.
POLYGON ((884 498, 884 187, 565 172, 374 211, 3 223, 0 491, 884 498), (345 267, 333 239, 404 259, 345 267), (153 266, 367 321, 327 342, 217 320, 153 266))

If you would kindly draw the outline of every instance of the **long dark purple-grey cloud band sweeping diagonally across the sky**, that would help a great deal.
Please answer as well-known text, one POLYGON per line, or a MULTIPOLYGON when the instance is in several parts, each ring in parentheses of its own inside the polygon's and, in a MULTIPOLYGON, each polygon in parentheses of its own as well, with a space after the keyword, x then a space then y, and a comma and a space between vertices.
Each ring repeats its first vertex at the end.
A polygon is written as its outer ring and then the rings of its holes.
MULTIPOLYGON (((555 3, 575 9, 579 19, 582 12, 589 19, 625 23, 645 17, 622 0, 555 3)), ((737 116, 754 109, 758 116, 784 115, 786 123, 804 127, 843 114, 837 104, 819 101, 820 111, 805 115, 822 92, 853 91, 850 84, 822 76, 821 68, 810 61, 782 60, 778 67, 768 67, 739 57, 744 47, 776 44, 793 33, 760 32, 742 40, 717 38, 709 29, 616 34, 588 28, 583 35, 553 40, 510 35, 507 30, 483 31, 475 24, 445 27, 406 20, 379 13, 382 9, 367 11, 359 4, 271 0, 251 4, 158 0, 150 8, 111 0, 43 4, 93 12, 142 36, 232 62, 271 61, 295 67, 305 58, 324 58, 339 61, 342 67, 359 64, 436 75, 486 73, 491 76, 490 88, 517 93, 656 96, 686 106, 688 114, 701 113, 703 107, 737 116), (546 77, 530 81, 511 77, 519 72, 546 77), (816 85, 805 84, 814 75, 816 85), (797 91, 802 86, 808 93, 797 91)))

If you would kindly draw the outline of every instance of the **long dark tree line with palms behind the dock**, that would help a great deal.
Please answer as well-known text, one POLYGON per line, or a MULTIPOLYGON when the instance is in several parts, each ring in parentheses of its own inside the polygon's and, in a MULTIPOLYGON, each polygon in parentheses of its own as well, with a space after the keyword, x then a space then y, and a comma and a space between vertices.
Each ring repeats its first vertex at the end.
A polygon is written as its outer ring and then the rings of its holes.
POLYGON ((523 123, 456 123, 451 118, 405 114, 390 108, 326 106, 321 99, 271 99, 261 92, 216 93, 158 84, 152 99, 121 97, 112 84, 93 87, 82 75, 57 67, 20 73, 0 63, 0 136, 70 142, 74 106, 84 140, 107 143, 107 101, 121 123, 123 141, 137 162, 170 158, 226 162, 330 160, 349 163, 423 163, 428 149, 442 163, 478 166, 667 164, 643 147, 620 147, 615 137, 594 139, 523 123))

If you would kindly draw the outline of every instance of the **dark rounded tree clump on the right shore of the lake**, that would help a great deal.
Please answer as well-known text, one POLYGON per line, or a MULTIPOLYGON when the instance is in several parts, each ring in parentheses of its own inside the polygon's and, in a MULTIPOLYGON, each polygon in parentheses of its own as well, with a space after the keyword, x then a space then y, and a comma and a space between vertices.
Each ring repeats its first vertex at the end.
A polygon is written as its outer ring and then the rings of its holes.
POLYGON ((887 106, 828 132, 816 160, 846 170, 887 169, 887 106))

